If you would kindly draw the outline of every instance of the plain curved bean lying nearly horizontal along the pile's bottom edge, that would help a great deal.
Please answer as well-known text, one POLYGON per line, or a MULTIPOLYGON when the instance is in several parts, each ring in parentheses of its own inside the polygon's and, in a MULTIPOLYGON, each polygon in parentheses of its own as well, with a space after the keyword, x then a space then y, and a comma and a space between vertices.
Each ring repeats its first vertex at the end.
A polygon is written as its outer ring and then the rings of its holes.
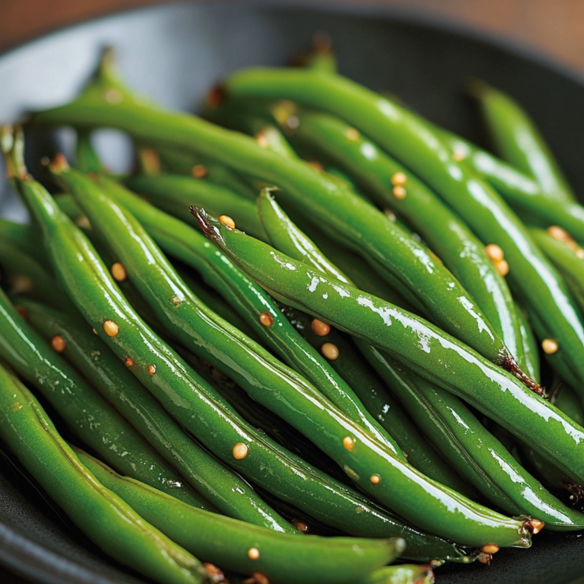
POLYGON ((121 477, 77 451, 83 464, 152 524, 205 562, 239 573, 262 572, 274 584, 352 584, 401 555, 401 538, 296 537, 194 509, 121 477))

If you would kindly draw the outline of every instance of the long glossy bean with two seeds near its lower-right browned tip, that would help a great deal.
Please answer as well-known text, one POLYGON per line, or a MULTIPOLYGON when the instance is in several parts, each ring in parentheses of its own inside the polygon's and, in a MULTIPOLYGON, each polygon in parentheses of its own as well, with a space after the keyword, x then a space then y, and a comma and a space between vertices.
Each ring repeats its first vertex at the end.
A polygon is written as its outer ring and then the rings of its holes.
MULTIPOLYGON (((91 180, 85 185, 82 175, 74 178, 74 173, 62 166, 53 165, 52 169, 69 186, 74 186, 79 204, 93 225, 99 225, 127 266, 128 274, 135 276, 135 285, 166 328, 193 350, 212 342, 213 351, 205 352, 206 359, 218 369, 229 371, 254 399, 303 432, 361 489, 421 529, 456 538, 462 544, 482 545, 481 539, 486 543, 495 538, 496 543, 503 545, 527 544, 529 520, 512 520, 476 505, 404 463, 385 443, 357 426, 303 378, 197 305, 197 299, 165 265, 164 257, 137 221, 99 189, 91 188, 94 186, 91 180), (127 232, 127 237, 120 237, 121 229, 127 232), (206 327, 200 324, 204 321, 206 327), (381 480, 382 474, 385 481, 381 480), (440 522, 436 521, 437 515, 442 516, 440 522)), ((249 449, 251 446, 246 447, 246 457, 249 449)))

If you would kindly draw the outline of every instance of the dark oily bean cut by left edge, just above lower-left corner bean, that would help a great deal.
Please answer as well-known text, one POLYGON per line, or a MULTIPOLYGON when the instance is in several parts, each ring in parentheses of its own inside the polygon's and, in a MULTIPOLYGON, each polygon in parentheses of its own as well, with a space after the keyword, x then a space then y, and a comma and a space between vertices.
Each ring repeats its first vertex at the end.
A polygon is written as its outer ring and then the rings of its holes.
POLYGON ((121 472, 193 505, 200 498, 112 406, 34 332, 0 291, 0 357, 33 383, 86 444, 121 472))

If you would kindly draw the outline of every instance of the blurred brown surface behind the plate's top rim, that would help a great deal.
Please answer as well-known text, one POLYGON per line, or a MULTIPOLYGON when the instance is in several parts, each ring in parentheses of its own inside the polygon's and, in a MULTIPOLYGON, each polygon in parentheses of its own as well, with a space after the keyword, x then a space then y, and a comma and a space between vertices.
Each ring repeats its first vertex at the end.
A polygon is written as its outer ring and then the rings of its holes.
MULTIPOLYGON (((0 50, 62 25, 156 1, 0 0, 0 50)), ((323 2, 350 4, 315 4, 323 2)), ((584 0, 353 0, 357 2, 408 8, 510 37, 584 72, 584 0)))

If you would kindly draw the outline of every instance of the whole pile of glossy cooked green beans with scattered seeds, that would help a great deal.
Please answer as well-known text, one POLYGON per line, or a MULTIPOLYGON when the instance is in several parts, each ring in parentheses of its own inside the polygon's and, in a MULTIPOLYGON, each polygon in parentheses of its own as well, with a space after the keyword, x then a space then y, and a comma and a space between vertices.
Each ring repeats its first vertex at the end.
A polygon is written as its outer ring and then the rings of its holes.
POLYGON ((432 582, 584 529, 584 208, 544 138, 484 82, 494 154, 340 76, 324 37, 295 64, 228 76, 203 119, 106 51, 30 116, 77 131, 55 196, 2 128, 32 225, 0 220, 0 438, 164 583, 432 582))

